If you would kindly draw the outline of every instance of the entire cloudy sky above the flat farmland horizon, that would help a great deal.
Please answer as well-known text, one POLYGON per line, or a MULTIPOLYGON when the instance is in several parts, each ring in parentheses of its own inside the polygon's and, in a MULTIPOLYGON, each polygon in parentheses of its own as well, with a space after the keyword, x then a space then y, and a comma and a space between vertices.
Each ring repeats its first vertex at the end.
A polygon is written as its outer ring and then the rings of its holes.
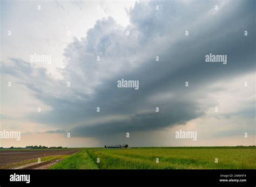
POLYGON ((0 147, 255 145, 255 1, 3 0, 0 16, 0 131, 21 132, 0 147))

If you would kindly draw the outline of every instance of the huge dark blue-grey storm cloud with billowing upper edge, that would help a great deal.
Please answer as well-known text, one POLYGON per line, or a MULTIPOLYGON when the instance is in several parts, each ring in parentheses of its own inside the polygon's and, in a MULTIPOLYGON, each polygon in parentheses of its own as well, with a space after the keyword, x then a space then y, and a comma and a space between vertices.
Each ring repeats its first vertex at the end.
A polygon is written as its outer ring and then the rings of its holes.
MULTIPOLYGON (((10 59, 12 65, 1 63, 1 73, 19 78, 33 97, 50 106, 24 118, 64 129, 57 133, 100 137, 186 124, 218 104, 208 94, 218 94, 212 84, 222 81, 225 89, 235 77, 255 72, 254 5, 136 2, 126 27, 103 18, 65 47, 62 79, 16 58, 10 59), (227 64, 205 62, 210 53, 227 55, 227 64), (139 89, 118 88, 122 78, 138 80, 139 89)), ((253 105, 245 109, 253 110, 253 105)))

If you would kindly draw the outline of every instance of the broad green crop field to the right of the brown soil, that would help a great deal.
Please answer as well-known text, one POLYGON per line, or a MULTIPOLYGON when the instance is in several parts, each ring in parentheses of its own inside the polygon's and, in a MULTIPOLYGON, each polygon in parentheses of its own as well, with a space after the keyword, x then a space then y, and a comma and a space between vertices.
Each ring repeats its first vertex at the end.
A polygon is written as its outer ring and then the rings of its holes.
POLYGON ((256 169, 256 149, 254 147, 85 148, 66 157, 51 169, 256 169), (216 159, 218 163, 215 162, 216 159))

